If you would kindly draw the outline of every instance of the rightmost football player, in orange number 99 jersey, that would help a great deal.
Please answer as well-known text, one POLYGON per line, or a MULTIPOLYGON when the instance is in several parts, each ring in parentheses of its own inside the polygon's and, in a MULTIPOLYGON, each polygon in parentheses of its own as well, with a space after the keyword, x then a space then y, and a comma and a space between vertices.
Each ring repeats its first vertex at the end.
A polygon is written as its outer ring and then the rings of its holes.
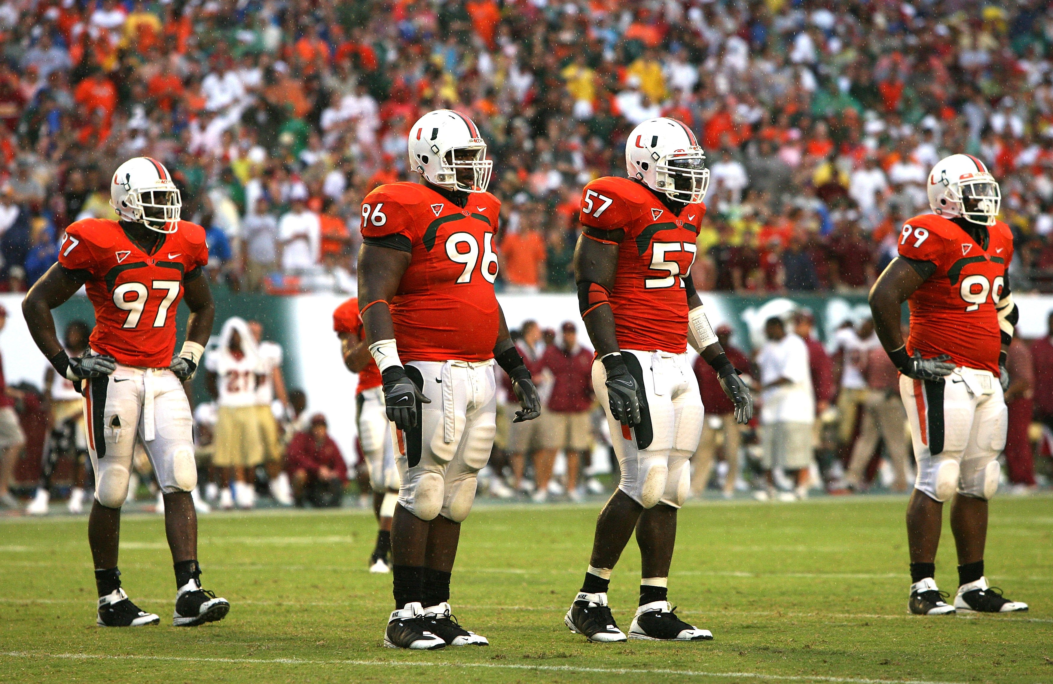
POLYGON ((997 220, 1001 196, 987 166, 952 155, 929 174, 934 214, 903 224, 899 256, 870 293, 874 327, 899 368, 917 480, 907 509, 911 555, 909 608, 917 615, 1010 612, 984 576, 988 501, 998 489, 1006 446, 1006 355, 1018 317, 1009 286, 1013 234, 997 220), (899 313, 910 303, 910 337, 899 313), (954 602, 936 586, 943 502, 958 551, 954 602))

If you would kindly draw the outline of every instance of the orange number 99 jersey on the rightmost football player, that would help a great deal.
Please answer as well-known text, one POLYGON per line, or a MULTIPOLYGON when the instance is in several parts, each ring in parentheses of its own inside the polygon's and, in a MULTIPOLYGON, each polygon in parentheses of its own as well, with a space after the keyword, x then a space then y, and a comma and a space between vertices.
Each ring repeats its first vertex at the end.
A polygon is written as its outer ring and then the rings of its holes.
POLYGON ((1013 234, 1001 221, 982 229, 990 235, 987 249, 956 223, 935 214, 903 224, 899 256, 936 264, 908 300, 907 350, 920 350, 927 358, 949 354, 958 365, 998 375, 1001 334, 995 304, 1013 260, 1013 234))

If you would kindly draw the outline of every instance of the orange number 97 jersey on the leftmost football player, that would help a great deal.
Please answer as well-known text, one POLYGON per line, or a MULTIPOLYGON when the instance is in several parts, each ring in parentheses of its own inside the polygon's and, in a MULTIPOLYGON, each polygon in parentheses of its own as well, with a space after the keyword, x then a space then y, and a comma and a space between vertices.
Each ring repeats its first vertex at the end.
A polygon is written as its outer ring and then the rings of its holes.
POLYGON ((163 236, 153 254, 110 219, 72 223, 59 245, 59 264, 84 282, 95 306, 92 348, 146 368, 172 363, 184 279, 200 277, 207 262, 204 228, 187 221, 163 236))

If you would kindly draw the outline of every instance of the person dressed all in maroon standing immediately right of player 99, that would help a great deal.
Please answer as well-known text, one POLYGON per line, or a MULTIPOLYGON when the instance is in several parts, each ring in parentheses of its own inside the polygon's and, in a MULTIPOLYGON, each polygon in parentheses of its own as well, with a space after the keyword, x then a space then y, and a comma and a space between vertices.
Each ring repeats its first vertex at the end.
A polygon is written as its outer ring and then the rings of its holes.
POLYGON ((1022 490, 1035 487, 1035 462, 1031 451, 1031 440, 1028 428, 1031 426, 1031 416, 1034 410, 1032 387, 1035 385, 1035 369, 1031 359, 1031 350, 1020 339, 1019 334, 1013 336, 1009 345, 1009 356, 1006 359, 1006 370, 1009 373, 1009 388, 1006 390, 1006 407, 1009 408, 1009 429, 1006 436, 1006 466, 1009 469, 1009 482, 1014 488, 1022 490))

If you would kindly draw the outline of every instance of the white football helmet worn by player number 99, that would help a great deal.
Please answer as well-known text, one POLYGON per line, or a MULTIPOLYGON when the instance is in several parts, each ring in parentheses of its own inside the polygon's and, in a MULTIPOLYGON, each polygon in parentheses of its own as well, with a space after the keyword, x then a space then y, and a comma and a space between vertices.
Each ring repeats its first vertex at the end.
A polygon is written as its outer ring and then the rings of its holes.
POLYGON ((951 155, 929 174, 929 206, 943 218, 962 217, 980 225, 994 225, 1001 207, 998 182, 979 159, 951 155))

